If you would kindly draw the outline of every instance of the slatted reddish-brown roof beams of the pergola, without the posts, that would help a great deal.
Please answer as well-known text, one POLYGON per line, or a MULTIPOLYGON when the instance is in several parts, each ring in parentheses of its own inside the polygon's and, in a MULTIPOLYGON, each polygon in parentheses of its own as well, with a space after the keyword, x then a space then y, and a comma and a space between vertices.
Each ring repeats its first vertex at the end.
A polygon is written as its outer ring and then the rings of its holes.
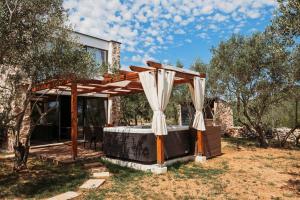
POLYGON ((176 72, 174 85, 192 83, 195 76, 205 78, 205 74, 200 74, 190 70, 164 66, 154 61, 147 61, 146 67, 130 66, 131 71, 119 70, 116 74, 106 73, 101 80, 95 79, 55 79, 41 83, 32 89, 32 92, 43 90, 57 90, 71 92, 71 85, 76 83, 78 95, 98 93, 109 96, 126 95, 143 92, 143 87, 139 81, 139 73, 144 71, 156 71, 165 69, 176 72), (124 81, 125 83, 121 84, 124 81), (127 82, 126 82, 127 81, 127 82), (120 83, 120 84, 119 84, 120 83))

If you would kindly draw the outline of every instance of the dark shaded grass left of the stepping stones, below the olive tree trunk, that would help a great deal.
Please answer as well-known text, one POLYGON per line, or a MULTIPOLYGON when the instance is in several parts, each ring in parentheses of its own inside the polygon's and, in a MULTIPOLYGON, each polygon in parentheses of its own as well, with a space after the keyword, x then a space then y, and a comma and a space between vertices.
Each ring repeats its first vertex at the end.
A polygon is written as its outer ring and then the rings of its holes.
POLYGON ((81 165, 55 166, 31 159, 28 170, 16 173, 11 162, 0 163, 0 199, 49 197, 76 189, 88 177, 81 165))

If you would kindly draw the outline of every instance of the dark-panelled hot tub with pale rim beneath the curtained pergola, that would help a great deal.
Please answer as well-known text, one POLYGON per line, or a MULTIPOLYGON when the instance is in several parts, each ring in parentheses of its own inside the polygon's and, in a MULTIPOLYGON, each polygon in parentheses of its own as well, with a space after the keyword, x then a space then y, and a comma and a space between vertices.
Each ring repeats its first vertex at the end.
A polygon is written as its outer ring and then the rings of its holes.
MULTIPOLYGON (((188 126, 168 126, 163 136, 165 159, 194 154, 195 134, 188 126)), ((106 127, 103 133, 103 151, 107 157, 156 163, 156 137, 150 127, 106 127)))

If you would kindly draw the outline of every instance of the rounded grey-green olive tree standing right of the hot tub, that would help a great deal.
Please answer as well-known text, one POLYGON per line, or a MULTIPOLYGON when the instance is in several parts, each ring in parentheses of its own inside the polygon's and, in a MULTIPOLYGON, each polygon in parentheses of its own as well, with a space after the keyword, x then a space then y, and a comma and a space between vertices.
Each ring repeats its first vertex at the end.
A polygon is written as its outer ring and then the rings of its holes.
POLYGON ((294 82, 285 46, 268 34, 233 35, 212 50, 212 92, 236 106, 237 119, 265 145, 263 118, 289 94, 294 82))

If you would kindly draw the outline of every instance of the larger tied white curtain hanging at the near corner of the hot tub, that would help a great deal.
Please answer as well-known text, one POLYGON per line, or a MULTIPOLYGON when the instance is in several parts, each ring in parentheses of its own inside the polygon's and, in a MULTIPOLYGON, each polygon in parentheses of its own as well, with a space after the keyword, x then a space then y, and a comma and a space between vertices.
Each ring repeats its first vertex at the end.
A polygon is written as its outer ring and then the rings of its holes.
POLYGON ((153 71, 139 73, 144 92, 153 111, 152 131, 155 135, 167 135, 166 109, 174 82, 175 72, 160 69, 156 75, 153 71))

